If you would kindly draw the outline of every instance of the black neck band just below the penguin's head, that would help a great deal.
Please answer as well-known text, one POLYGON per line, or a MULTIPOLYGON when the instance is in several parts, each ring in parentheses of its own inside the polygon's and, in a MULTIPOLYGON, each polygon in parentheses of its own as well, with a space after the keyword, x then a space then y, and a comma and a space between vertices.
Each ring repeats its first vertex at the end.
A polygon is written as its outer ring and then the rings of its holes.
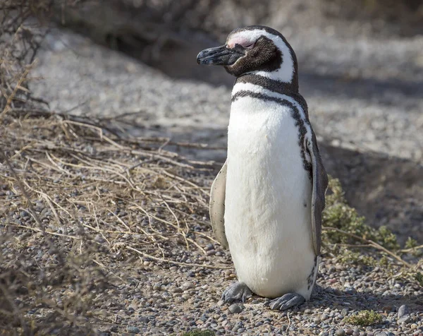
POLYGON ((237 83, 259 85, 266 90, 278 92, 283 95, 298 94, 298 75, 296 71, 293 71, 292 80, 289 82, 269 78, 268 76, 262 76, 257 73, 245 73, 236 78, 235 85, 237 83))

